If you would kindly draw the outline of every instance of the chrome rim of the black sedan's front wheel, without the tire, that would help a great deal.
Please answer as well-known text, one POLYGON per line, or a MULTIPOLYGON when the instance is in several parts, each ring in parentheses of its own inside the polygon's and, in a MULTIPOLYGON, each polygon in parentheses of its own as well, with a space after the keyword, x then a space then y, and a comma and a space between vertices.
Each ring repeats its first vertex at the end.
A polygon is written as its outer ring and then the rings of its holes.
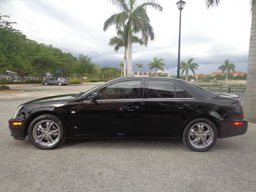
POLYGON ((42 146, 52 146, 60 139, 60 127, 52 120, 42 120, 34 126, 33 137, 42 146))

